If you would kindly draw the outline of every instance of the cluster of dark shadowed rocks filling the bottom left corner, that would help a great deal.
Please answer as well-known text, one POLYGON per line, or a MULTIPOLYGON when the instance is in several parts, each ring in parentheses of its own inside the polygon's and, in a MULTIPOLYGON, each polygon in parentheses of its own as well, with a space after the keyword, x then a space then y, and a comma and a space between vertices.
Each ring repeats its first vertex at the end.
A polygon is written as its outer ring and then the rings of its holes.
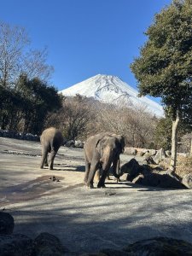
POLYGON ((61 241, 49 233, 41 233, 32 240, 22 234, 13 234, 14 218, 8 212, 0 212, 1 256, 52 256, 68 252, 61 241))

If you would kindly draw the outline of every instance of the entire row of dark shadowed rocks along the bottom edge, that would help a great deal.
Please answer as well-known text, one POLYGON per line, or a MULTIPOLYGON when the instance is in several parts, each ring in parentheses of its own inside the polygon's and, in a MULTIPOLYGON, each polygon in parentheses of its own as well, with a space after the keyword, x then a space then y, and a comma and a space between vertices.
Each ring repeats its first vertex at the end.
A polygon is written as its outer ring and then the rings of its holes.
POLYGON ((0 255, 1 256, 140 256, 140 255, 192 255, 192 245, 170 237, 154 237, 137 241, 121 250, 101 249, 98 253, 74 253, 49 233, 41 233, 34 240, 22 234, 13 234, 14 218, 0 212, 0 255))

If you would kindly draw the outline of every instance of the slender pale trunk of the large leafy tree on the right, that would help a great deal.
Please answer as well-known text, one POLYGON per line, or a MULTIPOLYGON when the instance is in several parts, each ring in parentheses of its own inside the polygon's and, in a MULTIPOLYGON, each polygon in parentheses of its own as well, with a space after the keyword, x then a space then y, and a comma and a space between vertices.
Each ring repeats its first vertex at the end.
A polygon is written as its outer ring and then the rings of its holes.
POLYGON ((179 116, 178 116, 178 113, 177 113, 176 119, 172 120, 172 158, 171 158, 171 162, 170 162, 170 170, 172 172, 176 171, 178 122, 179 122, 179 116))

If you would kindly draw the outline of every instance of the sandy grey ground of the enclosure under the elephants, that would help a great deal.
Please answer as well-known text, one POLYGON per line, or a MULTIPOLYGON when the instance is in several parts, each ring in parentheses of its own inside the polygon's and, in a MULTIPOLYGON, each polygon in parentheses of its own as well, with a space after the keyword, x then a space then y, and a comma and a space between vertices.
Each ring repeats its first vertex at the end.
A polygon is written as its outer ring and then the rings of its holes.
POLYGON ((113 180, 106 189, 85 189, 82 149, 62 147, 49 171, 38 167, 40 143, 0 138, 0 145, 0 210, 15 218, 14 233, 52 233, 74 253, 119 249, 154 236, 192 242, 191 190, 113 180))

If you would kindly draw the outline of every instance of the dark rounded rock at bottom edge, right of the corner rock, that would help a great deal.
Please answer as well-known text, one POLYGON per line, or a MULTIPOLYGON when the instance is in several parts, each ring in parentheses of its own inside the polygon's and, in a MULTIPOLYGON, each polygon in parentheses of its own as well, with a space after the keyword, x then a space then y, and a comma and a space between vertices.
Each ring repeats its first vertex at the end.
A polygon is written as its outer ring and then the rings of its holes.
POLYGON ((63 247, 61 241, 56 236, 49 233, 41 233, 33 242, 34 253, 37 256, 61 256, 67 253, 66 247, 63 247))

